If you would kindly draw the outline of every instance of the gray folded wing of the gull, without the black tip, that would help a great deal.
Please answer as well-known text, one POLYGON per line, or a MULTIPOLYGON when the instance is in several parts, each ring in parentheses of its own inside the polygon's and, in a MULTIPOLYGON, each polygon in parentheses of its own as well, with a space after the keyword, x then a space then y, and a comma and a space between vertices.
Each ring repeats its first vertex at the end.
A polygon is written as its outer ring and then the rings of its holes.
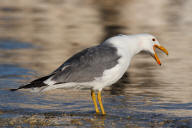
POLYGON ((117 49, 109 45, 98 45, 85 49, 62 64, 53 72, 56 84, 67 82, 88 82, 102 76, 104 70, 118 64, 117 49))

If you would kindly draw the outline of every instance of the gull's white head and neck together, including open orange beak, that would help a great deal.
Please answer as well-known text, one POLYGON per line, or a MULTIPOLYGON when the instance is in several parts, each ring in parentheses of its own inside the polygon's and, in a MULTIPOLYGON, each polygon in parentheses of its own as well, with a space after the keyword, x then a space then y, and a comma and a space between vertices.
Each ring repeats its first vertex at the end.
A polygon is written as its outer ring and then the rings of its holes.
POLYGON ((168 55, 168 51, 161 46, 156 37, 151 34, 117 35, 109 38, 105 42, 113 44, 119 49, 124 49, 124 51, 131 54, 131 56, 134 56, 140 51, 150 53, 159 65, 161 65, 161 62, 155 52, 155 48, 160 49, 168 55))

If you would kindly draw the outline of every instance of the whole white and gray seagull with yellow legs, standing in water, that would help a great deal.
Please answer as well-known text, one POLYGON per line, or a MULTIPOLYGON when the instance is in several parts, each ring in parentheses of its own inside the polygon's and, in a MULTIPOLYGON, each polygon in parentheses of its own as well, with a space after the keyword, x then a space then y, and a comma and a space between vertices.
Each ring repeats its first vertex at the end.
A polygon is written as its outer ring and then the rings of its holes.
POLYGON ((168 55, 151 34, 119 34, 76 53, 49 75, 10 90, 40 88, 40 92, 45 92, 57 88, 89 88, 96 113, 105 115, 102 89, 116 83, 127 71, 131 59, 141 51, 149 53, 161 65, 156 48, 168 55))

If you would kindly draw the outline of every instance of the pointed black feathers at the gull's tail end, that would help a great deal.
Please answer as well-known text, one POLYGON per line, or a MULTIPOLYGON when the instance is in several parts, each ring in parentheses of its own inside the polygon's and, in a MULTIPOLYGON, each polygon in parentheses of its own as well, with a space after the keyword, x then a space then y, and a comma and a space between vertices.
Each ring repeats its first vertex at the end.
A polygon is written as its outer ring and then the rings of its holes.
POLYGON ((40 87, 43 87, 43 86, 48 86, 47 84, 44 83, 44 81, 47 80, 50 76, 52 76, 52 75, 41 77, 39 79, 36 79, 36 80, 32 81, 29 84, 22 85, 22 86, 20 86, 18 88, 15 88, 15 89, 10 89, 10 91, 17 91, 19 89, 27 89, 27 88, 40 88, 40 87))

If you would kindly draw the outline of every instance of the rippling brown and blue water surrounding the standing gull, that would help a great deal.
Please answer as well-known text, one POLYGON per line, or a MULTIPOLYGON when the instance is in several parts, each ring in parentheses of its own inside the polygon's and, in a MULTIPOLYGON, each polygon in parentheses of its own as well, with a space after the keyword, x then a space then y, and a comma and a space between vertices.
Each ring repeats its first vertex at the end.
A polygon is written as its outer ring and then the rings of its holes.
POLYGON ((0 126, 192 127, 192 1, 0 1, 0 126), (137 55, 103 91, 107 116, 89 90, 9 92, 52 72, 69 56, 116 34, 151 33, 170 55, 162 66, 137 55))

